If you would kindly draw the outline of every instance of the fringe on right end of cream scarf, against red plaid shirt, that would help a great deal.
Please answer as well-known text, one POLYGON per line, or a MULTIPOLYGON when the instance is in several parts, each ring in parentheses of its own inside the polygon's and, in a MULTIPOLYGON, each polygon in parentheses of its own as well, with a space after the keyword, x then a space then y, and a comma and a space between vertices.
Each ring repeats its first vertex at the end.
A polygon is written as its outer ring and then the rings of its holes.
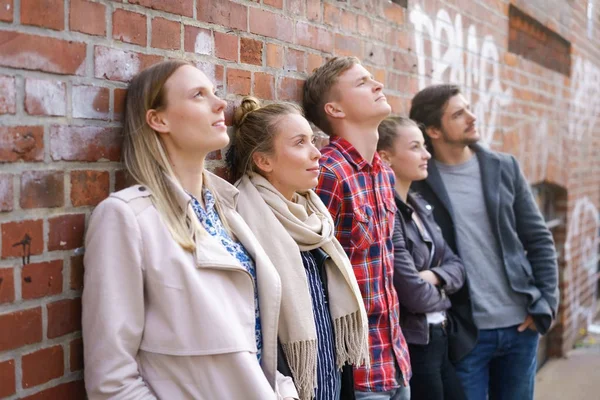
POLYGON ((369 331, 361 324, 360 311, 337 318, 333 321, 333 327, 338 369, 346 363, 370 367, 369 331))

